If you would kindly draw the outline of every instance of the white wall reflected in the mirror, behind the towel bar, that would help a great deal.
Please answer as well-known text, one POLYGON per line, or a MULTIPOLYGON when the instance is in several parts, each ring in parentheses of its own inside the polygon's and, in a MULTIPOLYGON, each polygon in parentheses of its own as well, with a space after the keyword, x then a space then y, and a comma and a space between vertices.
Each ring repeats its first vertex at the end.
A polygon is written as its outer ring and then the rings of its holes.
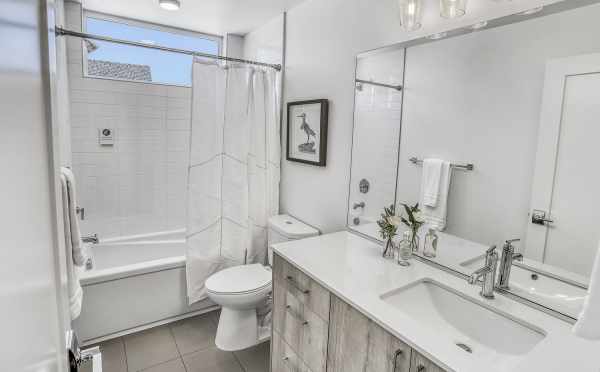
POLYGON ((471 162, 453 174, 446 231, 524 238, 545 63, 600 51, 598 19, 600 4, 409 48, 398 201, 419 198, 411 156, 471 162))

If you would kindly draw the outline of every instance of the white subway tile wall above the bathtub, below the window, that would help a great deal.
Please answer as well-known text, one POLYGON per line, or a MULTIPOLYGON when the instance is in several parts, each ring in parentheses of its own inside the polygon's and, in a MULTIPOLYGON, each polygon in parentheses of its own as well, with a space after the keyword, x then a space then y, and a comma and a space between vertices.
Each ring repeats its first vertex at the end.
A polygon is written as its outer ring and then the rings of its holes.
MULTIPOLYGON (((81 4, 66 2, 81 30, 81 4)), ((72 167, 82 233, 113 238, 185 227, 191 89, 83 77, 82 43, 67 40, 72 167), (101 146, 98 129, 114 131, 101 146)))

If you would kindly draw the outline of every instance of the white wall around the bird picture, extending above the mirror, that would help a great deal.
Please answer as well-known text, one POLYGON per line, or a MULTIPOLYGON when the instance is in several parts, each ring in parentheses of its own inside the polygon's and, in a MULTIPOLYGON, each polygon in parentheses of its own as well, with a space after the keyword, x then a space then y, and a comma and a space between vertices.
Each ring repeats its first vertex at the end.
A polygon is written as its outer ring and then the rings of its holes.
POLYGON ((470 1, 466 16, 443 20, 438 2, 426 1, 424 27, 413 33, 400 28, 391 0, 308 0, 289 10, 285 101, 327 98, 330 112, 327 167, 282 162, 283 210, 325 232, 345 226, 359 52, 552 2, 470 1))

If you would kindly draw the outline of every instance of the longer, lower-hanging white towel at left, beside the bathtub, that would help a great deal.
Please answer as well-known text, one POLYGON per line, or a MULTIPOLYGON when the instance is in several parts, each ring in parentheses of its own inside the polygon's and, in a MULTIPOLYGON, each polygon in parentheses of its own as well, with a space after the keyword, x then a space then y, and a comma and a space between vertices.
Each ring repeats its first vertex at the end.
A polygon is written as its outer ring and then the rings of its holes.
POLYGON ((60 175, 62 207, 63 207, 63 226, 65 233, 65 250, 67 259, 67 284, 69 290, 69 310, 71 320, 75 320, 81 313, 81 304, 83 300, 83 290, 79 283, 79 274, 77 263, 73 255, 73 241, 71 235, 71 214, 69 213, 69 187, 67 177, 64 173, 60 175))

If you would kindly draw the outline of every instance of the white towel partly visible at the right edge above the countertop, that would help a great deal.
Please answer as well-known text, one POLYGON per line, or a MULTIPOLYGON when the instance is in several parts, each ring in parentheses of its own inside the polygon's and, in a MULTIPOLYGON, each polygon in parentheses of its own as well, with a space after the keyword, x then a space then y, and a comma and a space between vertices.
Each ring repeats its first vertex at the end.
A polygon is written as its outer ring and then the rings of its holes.
POLYGON ((573 327, 573 332, 589 340, 600 340, 600 248, 596 253, 583 310, 573 327))

